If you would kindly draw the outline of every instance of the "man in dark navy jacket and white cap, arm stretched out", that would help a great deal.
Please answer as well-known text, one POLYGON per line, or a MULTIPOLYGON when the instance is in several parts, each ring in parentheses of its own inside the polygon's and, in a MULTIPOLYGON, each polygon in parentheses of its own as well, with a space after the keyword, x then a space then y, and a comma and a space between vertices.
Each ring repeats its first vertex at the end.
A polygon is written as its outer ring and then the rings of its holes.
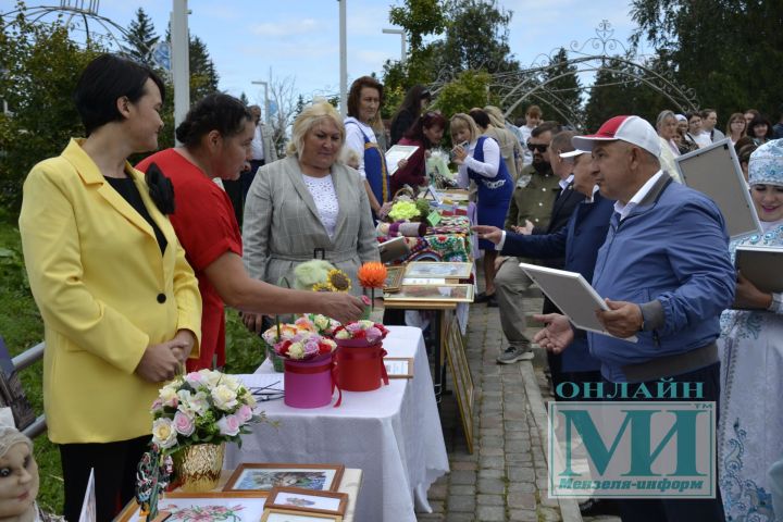
MULTIPOLYGON (((496 245, 501 256, 518 256, 535 259, 564 258, 564 269, 581 273, 587 282, 593 279, 598 248, 604 245, 614 201, 598 192, 592 175, 589 153, 573 150, 559 154, 563 161, 573 162, 573 182, 569 190, 584 196, 571 212, 566 226, 556 232, 540 235, 524 235, 501 231, 494 226, 478 225, 473 231, 496 245)), ((551 372, 552 386, 564 381, 595 383, 600 378, 600 362, 589 355, 585 332, 577 332, 568 350, 556 355, 559 372, 551 372)), ((574 397, 577 399, 579 396, 574 397)))

